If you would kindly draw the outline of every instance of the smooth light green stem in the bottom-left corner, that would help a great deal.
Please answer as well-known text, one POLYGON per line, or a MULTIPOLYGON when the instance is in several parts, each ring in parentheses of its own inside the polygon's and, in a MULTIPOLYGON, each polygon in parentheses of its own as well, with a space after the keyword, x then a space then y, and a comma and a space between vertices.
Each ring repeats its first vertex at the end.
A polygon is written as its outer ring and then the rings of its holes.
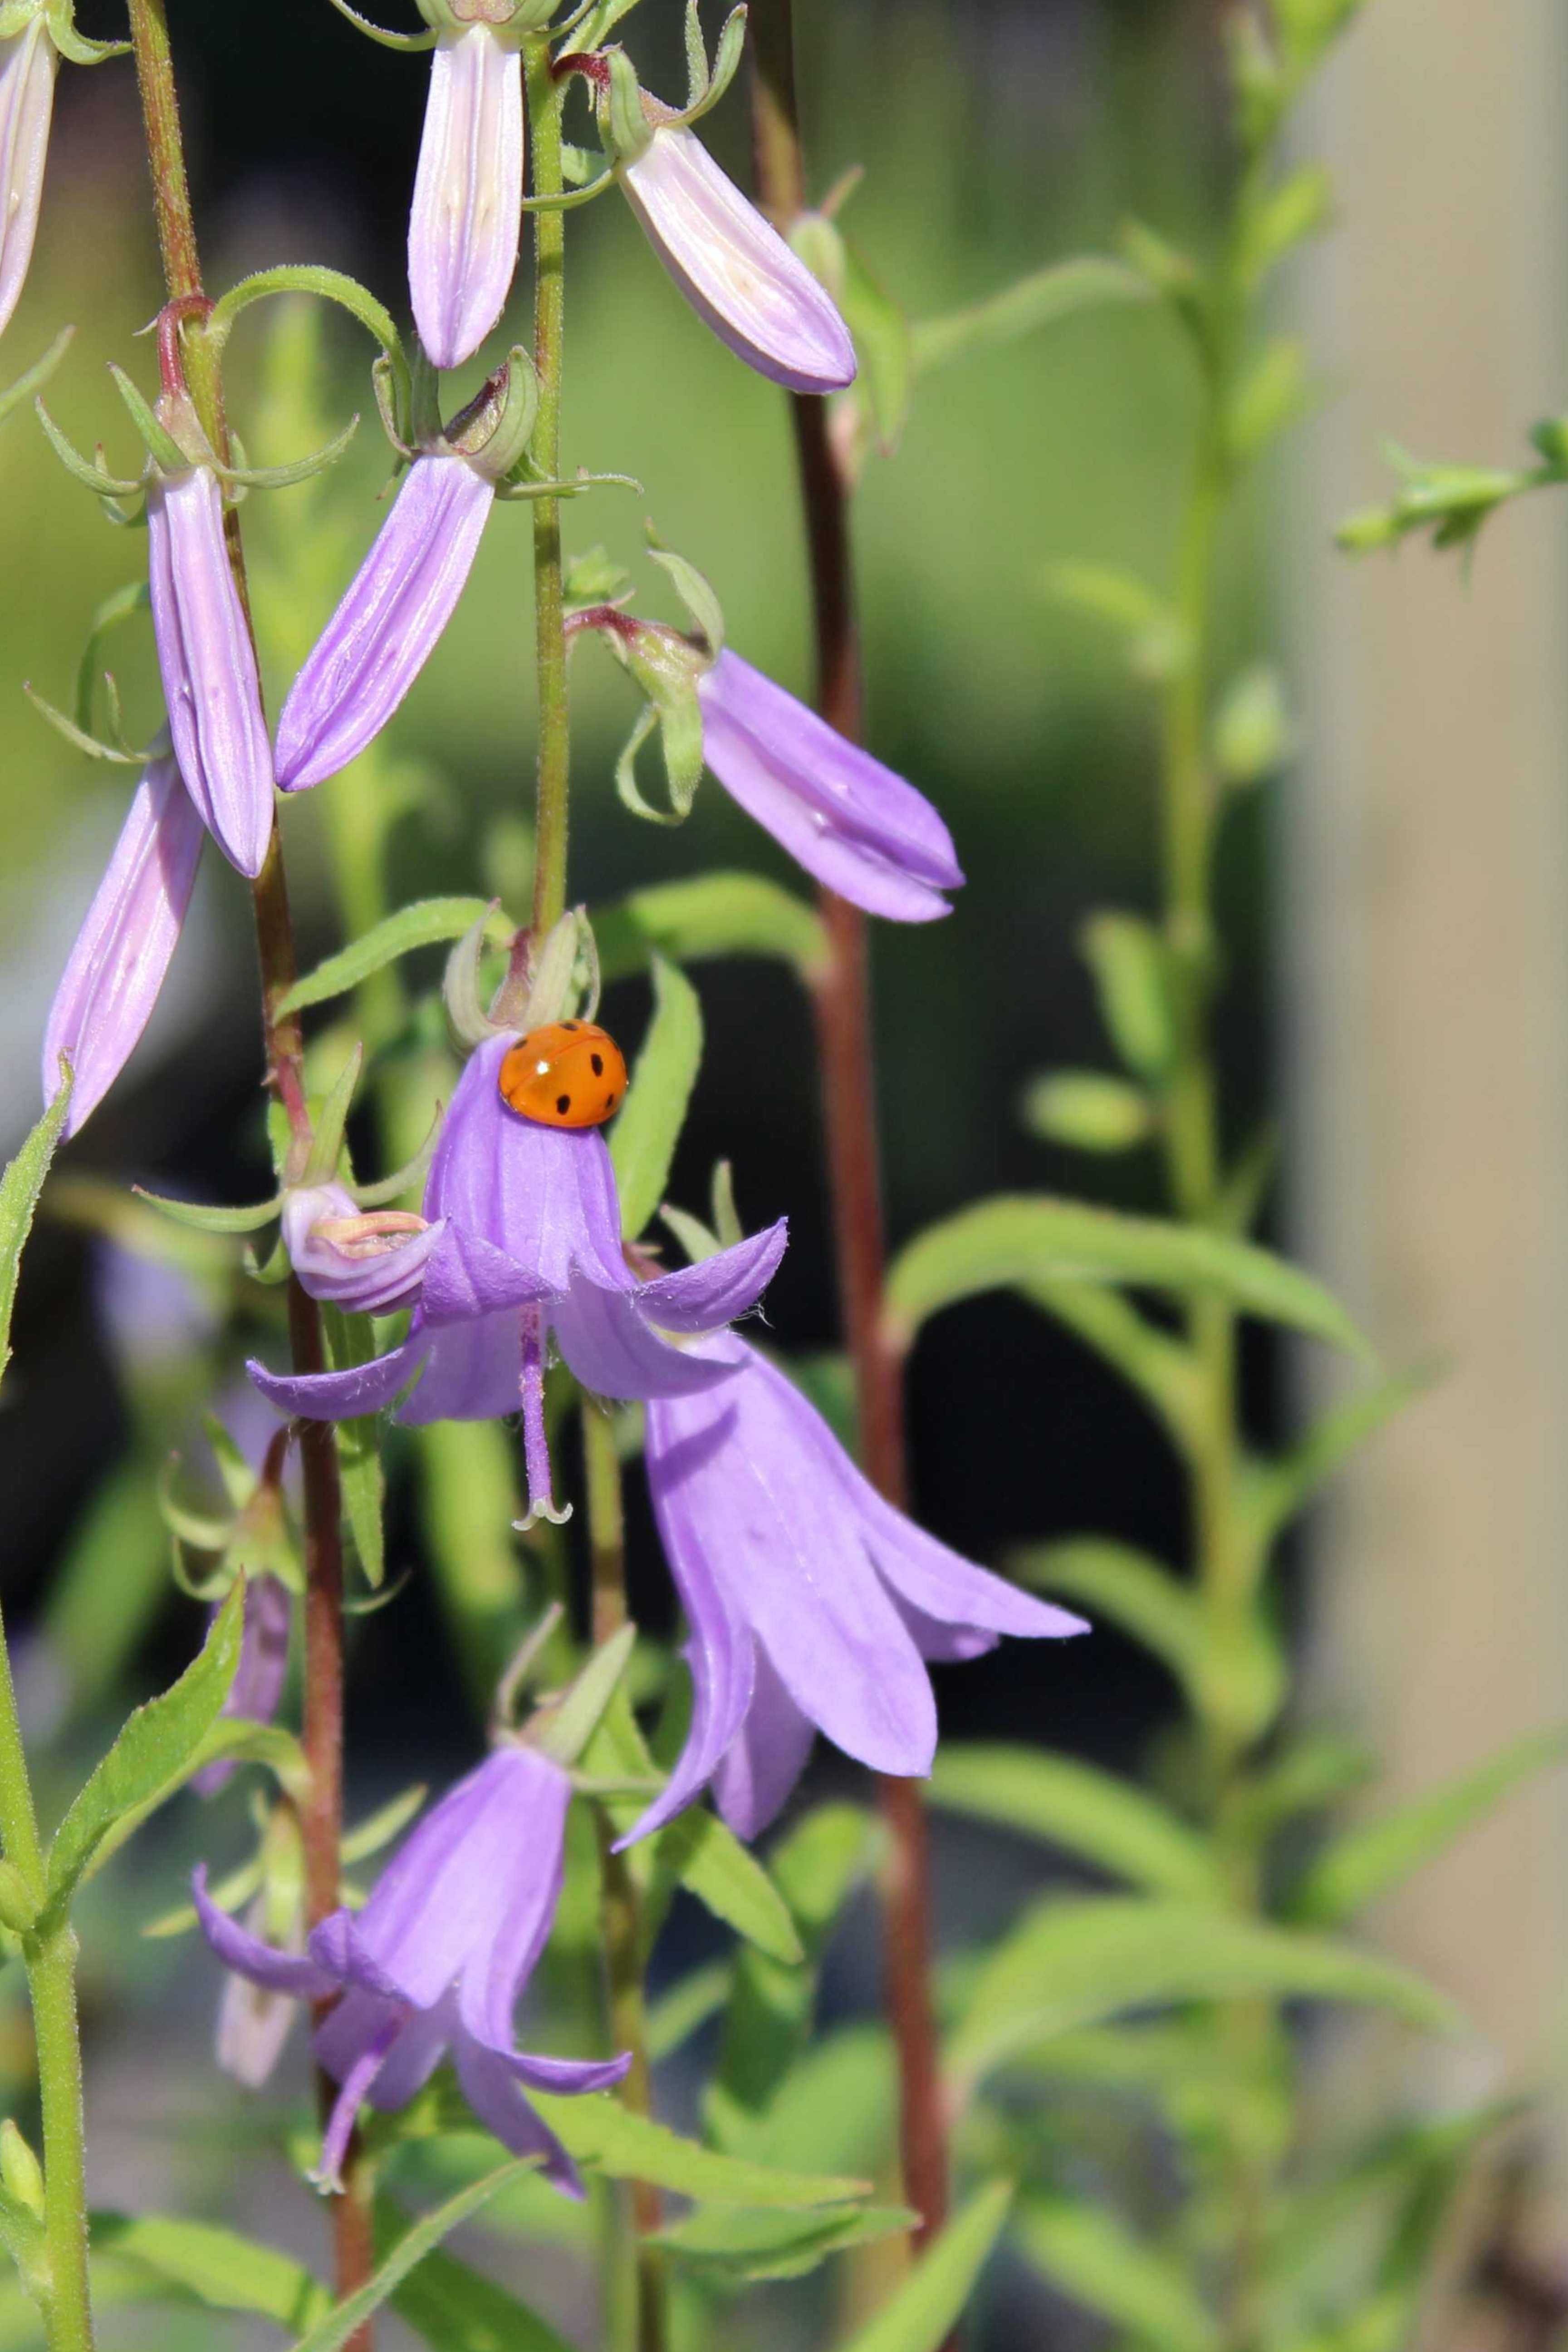
MULTIPOLYGON (((0 1846, 35 1903, 45 1893, 45 1856, 33 1783, 16 1719, 12 1658, 0 1625, 0 1846)), ((45 2138, 45 2263, 49 2352, 92 2352, 87 2281, 87 2150, 82 2136, 82 2042, 75 2018, 75 1936, 56 1924, 21 1945, 33 2004, 38 2098, 45 2138)))

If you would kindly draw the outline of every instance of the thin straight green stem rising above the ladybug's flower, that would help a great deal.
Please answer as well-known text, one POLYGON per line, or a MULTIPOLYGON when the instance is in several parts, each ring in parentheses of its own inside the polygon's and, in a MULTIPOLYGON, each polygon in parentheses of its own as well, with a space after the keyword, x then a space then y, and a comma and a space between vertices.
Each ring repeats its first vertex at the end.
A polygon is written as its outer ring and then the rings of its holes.
MULTIPOLYGON (((524 52, 534 195, 559 195, 564 87, 550 71, 550 45, 524 52)), ((548 482, 562 466, 562 339, 567 292, 567 221, 534 214, 534 367, 538 421, 534 461, 548 482)), ((567 790, 571 781, 571 715, 567 706, 567 628, 562 588, 562 510, 557 499, 534 501, 534 642, 538 661, 538 786, 534 811, 534 936, 567 910, 567 790)))

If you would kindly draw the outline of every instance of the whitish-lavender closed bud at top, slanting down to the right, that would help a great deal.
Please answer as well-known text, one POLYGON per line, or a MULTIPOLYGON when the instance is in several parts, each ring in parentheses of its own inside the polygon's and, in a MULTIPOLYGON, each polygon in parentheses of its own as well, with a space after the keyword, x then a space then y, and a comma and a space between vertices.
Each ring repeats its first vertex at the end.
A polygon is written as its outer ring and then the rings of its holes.
POLYGON ((792 393, 853 383, 832 296, 689 129, 654 132, 621 186, 691 308, 748 367, 792 393))

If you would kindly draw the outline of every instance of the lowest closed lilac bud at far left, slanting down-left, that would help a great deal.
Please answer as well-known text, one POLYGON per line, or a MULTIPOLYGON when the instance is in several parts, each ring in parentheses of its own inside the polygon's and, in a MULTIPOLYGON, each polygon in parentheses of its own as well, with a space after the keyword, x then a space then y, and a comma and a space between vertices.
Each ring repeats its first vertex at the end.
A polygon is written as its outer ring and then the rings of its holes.
POLYGON ((75 1087, 66 1134, 96 1110, 141 1037, 190 906, 202 818, 174 760, 153 760, 132 797, 115 854, 66 960, 45 1028, 45 1101, 59 1058, 75 1087))

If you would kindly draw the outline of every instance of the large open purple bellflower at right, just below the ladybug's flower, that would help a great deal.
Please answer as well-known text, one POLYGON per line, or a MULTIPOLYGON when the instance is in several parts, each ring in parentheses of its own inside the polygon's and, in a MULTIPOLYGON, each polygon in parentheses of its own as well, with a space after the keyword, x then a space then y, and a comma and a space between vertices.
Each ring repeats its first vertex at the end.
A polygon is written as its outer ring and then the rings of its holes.
POLYGON ((1081 1618, 959 1559, 884 1503, 766 1357, 715 1343, 724 1388, 646 1411, 654 1515, 691 1639, 691 1733, 635 1837, 712 1780, 741 1837, 773 1820, 813 1731, 875 1771, 922 1778, 936 1752, 926 1663, 1081 1618))

